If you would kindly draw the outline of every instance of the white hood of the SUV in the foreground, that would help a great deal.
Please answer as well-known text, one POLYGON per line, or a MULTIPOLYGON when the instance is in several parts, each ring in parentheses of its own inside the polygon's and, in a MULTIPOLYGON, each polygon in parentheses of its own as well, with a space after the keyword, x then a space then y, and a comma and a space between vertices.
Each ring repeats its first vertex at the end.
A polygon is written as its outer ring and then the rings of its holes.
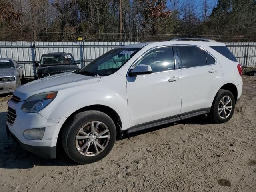
POLYGON ((59 91, 72 88, 74 86, 98 82, 99 80, 100 77, 85 76, 72 72, 67 72, 41 78, 24 84, 18 87, 13 94, 20 97, 23 101, 35 94, 49 91, 59 91))

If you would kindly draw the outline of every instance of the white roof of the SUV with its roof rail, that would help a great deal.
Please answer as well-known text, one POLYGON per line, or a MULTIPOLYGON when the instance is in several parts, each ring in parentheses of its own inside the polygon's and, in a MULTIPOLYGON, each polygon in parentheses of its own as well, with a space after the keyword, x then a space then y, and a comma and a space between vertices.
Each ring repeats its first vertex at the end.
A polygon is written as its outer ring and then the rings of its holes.
POLYGON ((124 45, 118 48, 142 48, 146 45, 162 46, 162 45, 198 45, 198 46, 224 46, 224 43, 219 42, 207 42, 207 41, 161 41, 161 42, 141 42, 137 44, 124 45))

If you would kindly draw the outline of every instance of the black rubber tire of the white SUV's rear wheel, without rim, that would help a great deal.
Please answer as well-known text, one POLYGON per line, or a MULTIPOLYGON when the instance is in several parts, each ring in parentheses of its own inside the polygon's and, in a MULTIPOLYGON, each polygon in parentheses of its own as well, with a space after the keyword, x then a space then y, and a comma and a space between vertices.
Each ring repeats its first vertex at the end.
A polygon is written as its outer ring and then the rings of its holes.
POLYGON ((212 107, 211 107, 211 110, 209 113, 209 117, 214 123, 224 123, 224 122, 229 121, 232 118, 232 116, 234 114, 234 110, 235 110, 234 95, 229 90, 220 89, 220 90, 218 90, 218 92, 213 100, 212 107), (231 109, 230 115, 227 118, 223 119, 223 118, 221 118, 221 116, 219 114, 219 104, 220 104, 220 100, 224 96, 229 96, 231 98, 232 109, 231 109))

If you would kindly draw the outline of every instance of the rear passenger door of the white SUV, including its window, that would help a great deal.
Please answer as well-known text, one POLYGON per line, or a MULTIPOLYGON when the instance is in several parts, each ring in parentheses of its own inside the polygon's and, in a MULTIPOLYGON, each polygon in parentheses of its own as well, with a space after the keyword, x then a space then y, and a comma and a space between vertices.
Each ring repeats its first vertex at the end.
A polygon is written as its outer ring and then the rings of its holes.
POLYGON ((176 46, 182 74, 181 118, 209 112, 224 84, 218 61, 198 46, 176 46))

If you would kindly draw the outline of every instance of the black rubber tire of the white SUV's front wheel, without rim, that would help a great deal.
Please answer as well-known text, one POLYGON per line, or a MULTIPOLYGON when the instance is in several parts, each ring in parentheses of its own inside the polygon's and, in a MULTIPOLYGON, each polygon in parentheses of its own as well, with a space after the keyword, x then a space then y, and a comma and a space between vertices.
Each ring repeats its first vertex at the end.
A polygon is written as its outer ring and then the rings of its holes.
POLYGON ((76 114, 71 118, 62 133, 62 145, 66 154, 79 164, 89 164, 101 160, 106 157, 114 146, 116 141, 116 126, 113 120, 105 113, 91 110, 76 114), (109 130, 109 141, 105 149, 96 156, 84 156, 78 152, 76 148, 76 136, 80 128, 92 121, 100 121, 104 123, 109 130))

